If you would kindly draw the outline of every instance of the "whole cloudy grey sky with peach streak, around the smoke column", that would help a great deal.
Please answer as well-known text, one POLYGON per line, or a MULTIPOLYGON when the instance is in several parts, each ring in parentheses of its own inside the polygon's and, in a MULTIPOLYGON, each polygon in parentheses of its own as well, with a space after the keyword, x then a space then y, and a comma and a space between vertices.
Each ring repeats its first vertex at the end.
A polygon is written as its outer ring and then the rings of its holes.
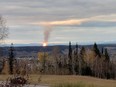
POLYGON ((116 0, 0 0, 7 44, 116 42, 116 0))

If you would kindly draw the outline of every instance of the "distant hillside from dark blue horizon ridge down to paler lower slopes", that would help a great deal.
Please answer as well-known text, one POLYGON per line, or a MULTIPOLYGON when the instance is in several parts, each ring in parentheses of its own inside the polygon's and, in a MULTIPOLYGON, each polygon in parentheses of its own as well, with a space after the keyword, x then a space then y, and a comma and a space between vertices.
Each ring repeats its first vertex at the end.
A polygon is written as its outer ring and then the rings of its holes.
MULTIPOLYGON (((79 45, 79 48, 85 46, 86 48, 91 49, 93 45, 79 45)), ((8 57, 10 46, 1 47, 3 49, 3 55, 8 57)), ((14 53, 17 57, 21 56, 34 56, 37 58, 38 52, 51 52, 54 47, 58 47, 60 52, 68 51, 68 45, 53 45, 53 46, 14 46, 14 53)), ((98 48, 101 51, 102 48, 107 48, 111 55, 116 55, 116 44, 98 44, 98 48)), ((72 45, 72 49, 75 49, 75 45, 72 45)))

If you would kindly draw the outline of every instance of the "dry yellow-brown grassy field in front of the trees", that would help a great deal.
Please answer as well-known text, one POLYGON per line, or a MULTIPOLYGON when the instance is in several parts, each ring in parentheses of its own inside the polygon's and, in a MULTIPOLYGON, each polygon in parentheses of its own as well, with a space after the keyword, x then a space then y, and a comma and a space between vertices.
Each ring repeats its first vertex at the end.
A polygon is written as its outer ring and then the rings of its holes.
MULTIPOLYGON (((0 75, 0 80, 6 80, 8 75, 0 75)), ((32 84, 38 83, 40 75, 30 75, 32 84)), ((42 75, 40 84, 80 84, 82 87, 116 87, 116 80, 104 80, 88 76, 69 76, 69 75, 42 75)), ((61 86, 60 86, 61 87, 61 86)), ((70 87, 70 86, 68 86, 70 87)), ((81 86, 78 86, 81 87, 81 86)))

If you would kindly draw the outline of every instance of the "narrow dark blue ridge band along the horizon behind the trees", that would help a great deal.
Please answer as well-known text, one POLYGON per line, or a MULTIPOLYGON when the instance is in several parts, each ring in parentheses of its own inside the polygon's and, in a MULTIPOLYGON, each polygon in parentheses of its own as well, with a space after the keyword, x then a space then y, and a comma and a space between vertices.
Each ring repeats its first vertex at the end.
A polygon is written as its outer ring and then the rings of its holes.
MULTIPOLYGON (((23 45, 23 46, 14 46, 14 49, 15 49, 15 51, 42 52, 42 51, 52 51, 55 46, 59 47, 60 50, 68 49, 68 45, 53 45, 53 46, 51 45, 51 46, 47 46, 47 47, 30 46, 30 45, 25 46, 25 45, 23 45)), ((93 45, 79 45, 80 48, 82 46, 92 48, 93 45)), ((3 48, 4 51, 7 51, 9 49, 9 47, 10 47, 10 45, 9 46, 4 46, 4 47, 1 47, 1 48, 3 48)), ((116 44, 98 44, 98 47, 101 50, 104 47, 116 47, 116 44)), ((72 48, 75 48, 75 45, 72 45, 72 48)))

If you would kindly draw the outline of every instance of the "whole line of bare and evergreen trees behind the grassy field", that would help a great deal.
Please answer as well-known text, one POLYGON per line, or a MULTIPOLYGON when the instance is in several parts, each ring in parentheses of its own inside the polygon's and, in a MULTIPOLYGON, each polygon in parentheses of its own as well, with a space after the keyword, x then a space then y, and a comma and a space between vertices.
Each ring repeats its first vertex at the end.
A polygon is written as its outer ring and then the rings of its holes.
POLYGON ((116 79, 115 62, 110 60, 107 48, 99 50, 96 43, 91 48, 87 48, 79 47, 78 44, 72 47, 71 42, 69 42, 66 53, 61 53, 61 50, 56 46, 52 52, 43 52, 41 55, 39 53, 39 60, 34 60, 31 63, 27 60, 16 60, 13 50, 14 48, 11 45, 8 63, 4 63, 2 72, 6 71, 7 67, 9 74, 23 71, 23 73, 28 72, 30 74, 86 75, 116 79))

